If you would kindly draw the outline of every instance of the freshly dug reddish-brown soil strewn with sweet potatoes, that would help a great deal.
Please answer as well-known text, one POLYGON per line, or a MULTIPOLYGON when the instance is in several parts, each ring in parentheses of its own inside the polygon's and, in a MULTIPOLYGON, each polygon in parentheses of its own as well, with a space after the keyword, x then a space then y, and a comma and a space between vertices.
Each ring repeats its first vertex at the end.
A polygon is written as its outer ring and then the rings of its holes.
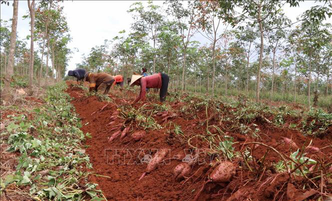
MULTIPOLYGON (((115 89, 113 91, 113 94, 115 89)), ((106 176, 91 176, 89 181, 99 184, 108 200, 193 200, 197 193, 202 190, 198 200, 227 200, 233 195, 232 199, 243 200, 288 200, 286 196, 287 184, 290 182, 287 174, 280 174, 271 170, 267 170, 259 178, 255 178, 243 168, 237 168, 236 176, 230 184, 206 184, 203 187, 204 181, 207 180, 209 174, 213 171, 211 165, 194 165, 188 181, 174 182, 173 169, 180 164, 178 160, 173 159, 174 155, 182 150, 189 150, 188 142, 181 142, 174 134, 168 132, 169 128, 165 128, 164 122, 161 118, 155 117, 157 123, 163 126, 161 130, 154 130, 147 132, 140 141, 135 142, 131 138, 134 131, 139 130, 137 125, 133 125, 127 136, 120 140, 118 137, 112 143, 108 142, 110 137, 116 130, 114 125, 123 123, 124 120, 117 118, 114 124, 108 125, 111 116, 116 114, 117 105, 122 104, 121 99, 110 95, 113 103, 100 102, 96 96, 84 97, 84 91, 81 88, 69 87, 66 91, 75 99, 72 104, 76 108, 76 112, 80 115, 83 127, 81 130, 90 133, 92 138, 86 141, 86 153, 90 156, 90 161, 93 164, 93 170, 98 175, 106 176), (103 108, 103 109, 102 109, 103 108), (102 111, 101 111, 102 109, 102 111), (140 176, 145 172, 146 164, 141 163, 139 159, 142 158, 142 151, 146 149, 154 153, 155 149, 166 148, 170 152, 168 159, 165 160, 166 165, 160 165, 156 170, 147 175, 141 181, 138 181, 140 176), (140 150, 136 151, 135 150, 140 150), (127 151, 129 150, 129 151, 127 151), (112 158, 117 155, 121 159, 112 158), (112 160, 113 159, 113 160, 112 160), (132 165, 119 164, 129 162, 132 165), (135 164, 136 162, 136 164, 135 164), (203 188, 202 188, 203 187, 203 188), (237 192, 237 194, 235 194, 237 192), (235 195, 234 195, 235 194, 235 195)), ((128 92, 126 100, 132 100, 135 94, 128 92)), ((136 107, 140 107, 137 105, 136 107)), ((173 104, 172 109, 177 110, 181 104, 173 104)), ((198 115, 199 116, 199 115, 198 115)), ((204 118, 204 112, 201 119, 204 118)), ((181 126, 185 136, 193 136, 197 134, 204 134, 205 129, 200 126, 200 119, 186 120, 181 115, 173 118, 171 121, 181 126)), ((213 119, 211 124, 213 124, 213 119)), ((168 124, 167 124, 168 125, 168 124)), ((262 135, 262 142, 270 146, 278 146, 278 150, 290 155, 296 151, 289 148, 286 144, 279 144, 283 137, 292 138, 297 146, 301 148, 304 143, 310 142, 310 138, 304 137, 300 132, 294 130, 283 130, 278 128, 270 128, 264 124, 259 124, 259 128, 265 135, 262 135)), ((118 129, 120 129, 119 127, 118 129)), ((216 132, 216 131, 212 131, 216 132)), ((254 141, 251 137, 243 136, 238 133, 228 133, 234 138, 235 150, 243 149, 240 144, 244 142, 254 141)), ((331 145, 330 140, 313 139, 312 146, 323 148, 331 145)), ((191 145, 198 148, 209 148, 208 145, 195 138, 191 141, 191 145)), ((258 146, 255 151, 255 157, 262 157, 267 151, 266 147, 258 146)), ((144 152, 145 153, 145 152, 144 152)), ((152 154, 153 154, 152 153, 152 154)), ((146 153, 145 153, 146 154, 146 153)), ((144 154, 143 154, 144 155, 144 154)), ((319 155, 322 160, 332 158, 332 148, 328 147, 319 155)), ((215 159, 213 159, 216 162, 215 159)), ((271 153, 266 159, 270 164, 278 163, 280 158, 278 154, 271 153)), ((237 167, 245 166, 243 161, 234 161, 237 167)), ((304 179, 296 178, 292 181, 296 188, 303 187, 304 179), (302 185, 302 186, 301 186, 302 185)), ((311 187, 311 186, 308 186, 311 187)), ((331 184, 327 184, 326 188, 331 188, 331 184), (330 185, 330 186, 329 186, 330 185)), ((305 191, 298 190, 297 194, 303 194, 305 191)), ((330 192, 332 193, 332 192, 330 192)))

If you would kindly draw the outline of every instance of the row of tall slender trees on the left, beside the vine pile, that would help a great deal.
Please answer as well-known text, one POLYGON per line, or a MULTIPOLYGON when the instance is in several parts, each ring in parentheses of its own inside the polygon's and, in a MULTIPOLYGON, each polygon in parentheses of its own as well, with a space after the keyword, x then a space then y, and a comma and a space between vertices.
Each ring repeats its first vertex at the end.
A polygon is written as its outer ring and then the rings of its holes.
MULTIPOLYGON (((1 3, 9 5, 6 0, 1 0, 1 3)), ((13 1, 11 31, 7 22, 1 20, 0 70, 1 75, 4 74, 2 93, 5 100, 10 99, 10 82, 13 75, 28 75, 29 94, 32 95, 33 80, 37 80, 38 86, 41 86, 42 79, 60 80, 70 59, 71 50, 67 44, 71 38, 61 1, 41 0, 36 4, 34 0, 27 0, 27 4, 29 14, 23 18, 30 19, 30 35, 26 36, 26 39, 30 40, 30 50, 26 48, 25 39, 16 39, 17 0, 13 1)))

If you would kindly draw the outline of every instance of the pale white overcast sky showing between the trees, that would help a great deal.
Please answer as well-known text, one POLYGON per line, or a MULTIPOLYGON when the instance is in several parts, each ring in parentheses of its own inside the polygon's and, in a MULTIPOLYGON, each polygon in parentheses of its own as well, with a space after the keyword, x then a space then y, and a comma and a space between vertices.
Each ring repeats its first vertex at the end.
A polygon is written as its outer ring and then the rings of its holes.
MULTIPOLYGON (((64 0, 63 11, 72 37, 68 47, 73 51, 67 70, 75 69, 76 63, 82 61, 82 54, 87 55, 92 47, 103 44, 105 39, 114 38, 123 29, 130 31, 133 19, 127 10, 134 2, 136 0, 64 0)), ((153 3, 163 6, 163 1, 153 1, 153 3)), ((143 1, 143 4, 146 5, 147 1, 143 1)), ((313 0, 305 0, 300 2, 300 7, 284 6, 284 11, 286 16, 295 22, 298 16, 314 4, 313 0)), ((17 22, 19 39, 30 34, 29 19, 22 18, 26 14, 28 14, 27 1, 19 0, 17 22)), ((0 18, 2 20, 12 18, 12 1, 9 1, 9 6, 0 4, 0 18)), ((326 21, 332 22, 332 19, 326 21)), ((208 42, 199 33, 193 37, 193 40, 198 40, 201 44, 208 42)), ((27 46, 29 47, 29 41, 27 46)))

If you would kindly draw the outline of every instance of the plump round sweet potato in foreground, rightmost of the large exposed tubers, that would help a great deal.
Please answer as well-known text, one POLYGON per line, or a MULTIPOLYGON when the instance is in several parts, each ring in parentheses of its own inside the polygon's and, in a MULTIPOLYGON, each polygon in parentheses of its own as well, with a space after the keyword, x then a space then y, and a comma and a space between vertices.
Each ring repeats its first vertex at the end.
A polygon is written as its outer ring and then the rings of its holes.
POLYGON ((235 175, 235 166, 228 161, 222 162, 213 170, 210 181, 214 183, 230 182, 235 175))

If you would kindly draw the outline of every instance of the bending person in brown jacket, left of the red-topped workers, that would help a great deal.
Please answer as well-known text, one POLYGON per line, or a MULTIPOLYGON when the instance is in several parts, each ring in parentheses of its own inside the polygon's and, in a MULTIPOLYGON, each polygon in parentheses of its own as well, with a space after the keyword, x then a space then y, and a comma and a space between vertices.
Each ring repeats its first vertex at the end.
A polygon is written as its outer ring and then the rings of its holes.
POLYGON ((104 94, 108 94, 109 88, 114 82, 114 76, 109 75, 107 73, 85 73, 85 81, 90 82, 89 91, 98 91, 98 87, 100 84, 105 84, 106 88, 104 94))

